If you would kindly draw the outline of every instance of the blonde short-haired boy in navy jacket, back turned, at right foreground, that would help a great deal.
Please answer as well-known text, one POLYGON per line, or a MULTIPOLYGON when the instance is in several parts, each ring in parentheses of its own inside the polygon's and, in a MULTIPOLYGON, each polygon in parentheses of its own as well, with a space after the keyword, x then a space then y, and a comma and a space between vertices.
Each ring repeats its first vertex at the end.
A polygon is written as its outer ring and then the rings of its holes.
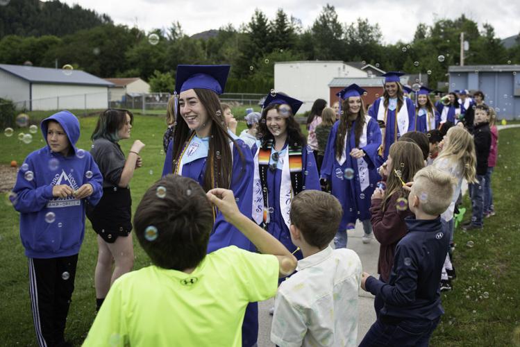
POLYGON ((362 276, 362 289, 383 298, 385 305, 360 346, 428 346, 444 314, 439 282, 450 239, 439 215, 451 202, 453 178, 429 166, 408 185, 415 217, 405 219, 408 234, 397 244, 388 284, 368 273, 362 276))

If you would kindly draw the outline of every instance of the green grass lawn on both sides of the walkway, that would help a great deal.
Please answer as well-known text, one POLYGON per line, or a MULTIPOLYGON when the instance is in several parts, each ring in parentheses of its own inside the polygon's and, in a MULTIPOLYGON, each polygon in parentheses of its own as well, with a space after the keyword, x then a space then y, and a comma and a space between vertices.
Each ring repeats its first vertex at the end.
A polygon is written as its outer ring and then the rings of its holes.
MULTIPOLYGON (((47 114, 49 115, 49 113, 47 114)), ((90 149, 90 135, 96 117, 81 118, 81 138, 78 147, 90 149)), ((239 122, 239 132, 245 128, 239 122)), ((137 115, 132 139, 121 141, 128 153, 135 139, 146 146, 142 150, 143 167, 135 172, 131 183, 133 208, 137 206, 147 187, 160 178, 165 154, 162 152, 162 134, 165 122, 162 117, 137 115)), ((0 164, 17 160, 21 164, 31 151, 44 145, 40 131, 33 134, 33 142, 24 144, 17 139, 0 134, 0 164)), ((443 294, 446 315, 435 331, 434 346, 509 346, 512 332, 519 326, 520 296, 520 221, 517 217, 516 198, 520 189, 514 185, 519 177, 520 143, 515 142, 520 129, 501 130, 498 167, 493 186, 497 215, 486 219, 484 232, 455 232, 455 266, 458 278, 455 289, 443 294), (474 246, 466 246, 473 241, 474 246), (489 298, 484 298, 484 292, 489 298), (479 297, 483 296, 482 299, 479 297), (474 313, 473 313, 474 312, 474 313)), ((468 201, 465 201, 466 205, 468 201)), ((0 344, 5 346, 35 346, 31 305, 28 296, 28 268, 24 248, 19 240, 19 216, 3 194, 0 209, 0 344)), ((133 234, 132 234, 133 235, 133 234)), ((76 273, 76 289, 67 321, 66 336, 80 345, 94 319, 94 266, 97 257, 95 233, 86 223, 85 241, 79 255, 76 273)), ((134 237, 134 235, 133 235, 134 237)), ((135 265, 140 269, 149 265, 134 238, 135 265)))

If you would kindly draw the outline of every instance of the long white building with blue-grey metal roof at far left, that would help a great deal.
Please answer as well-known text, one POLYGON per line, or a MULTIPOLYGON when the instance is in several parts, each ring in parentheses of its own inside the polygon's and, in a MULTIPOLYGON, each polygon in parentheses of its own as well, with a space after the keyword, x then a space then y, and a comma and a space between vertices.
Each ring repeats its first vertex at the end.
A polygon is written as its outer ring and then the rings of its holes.
POLYGON ((0 98, 25 110, 108 108, 113 84, 85 71, 0 64, 0 98))

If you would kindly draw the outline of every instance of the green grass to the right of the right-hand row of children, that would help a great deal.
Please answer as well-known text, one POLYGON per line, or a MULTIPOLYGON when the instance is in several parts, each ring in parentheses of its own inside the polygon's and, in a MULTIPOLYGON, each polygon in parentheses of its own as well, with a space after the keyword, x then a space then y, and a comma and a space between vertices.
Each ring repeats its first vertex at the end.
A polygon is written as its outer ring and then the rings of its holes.
MULTIPOLYGON (((492 176, 496 216, 485 219, 483 232, 455 230, 457 278, 453 291, 442 294, 446 314, 433 334, 432 346, 512 346, 515 329, 516 346, 520 346, 519 135, 514 128, 499 133, 499 158, 492 176)), ((467 196, 464 207, 468 219, 467 196)))

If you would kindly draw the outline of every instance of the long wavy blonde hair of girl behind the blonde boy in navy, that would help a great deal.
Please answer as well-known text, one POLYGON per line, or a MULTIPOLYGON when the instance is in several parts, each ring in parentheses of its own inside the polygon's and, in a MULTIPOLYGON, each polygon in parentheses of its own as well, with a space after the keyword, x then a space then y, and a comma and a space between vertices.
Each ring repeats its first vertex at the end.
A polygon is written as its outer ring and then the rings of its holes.
POLYGON ((435 160, 447 159, 460 164, 462 176, 468 183, 475 183, 477 158, 471 134, 460 126, 452 126, 444 136, 444 142, 442 151, 435 160))

